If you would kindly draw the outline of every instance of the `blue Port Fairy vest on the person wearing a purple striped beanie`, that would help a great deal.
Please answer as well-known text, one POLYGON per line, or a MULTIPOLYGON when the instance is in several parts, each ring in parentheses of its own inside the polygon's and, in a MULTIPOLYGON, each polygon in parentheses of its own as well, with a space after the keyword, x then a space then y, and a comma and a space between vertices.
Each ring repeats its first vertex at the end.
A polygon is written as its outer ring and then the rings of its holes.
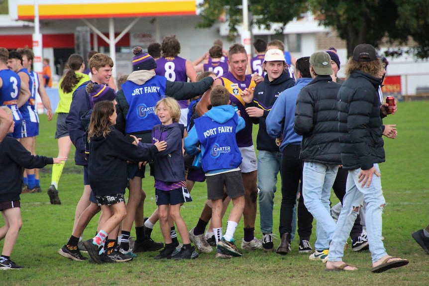
POLYGON ((122 85, 123 94, 129 104, 125 118, 126 133, 152 130, 153 126, 161 123, 155 114, 155 105, 165 97, 166 83, 166 78, 154 76, 141 86, 130 81, 122 85))

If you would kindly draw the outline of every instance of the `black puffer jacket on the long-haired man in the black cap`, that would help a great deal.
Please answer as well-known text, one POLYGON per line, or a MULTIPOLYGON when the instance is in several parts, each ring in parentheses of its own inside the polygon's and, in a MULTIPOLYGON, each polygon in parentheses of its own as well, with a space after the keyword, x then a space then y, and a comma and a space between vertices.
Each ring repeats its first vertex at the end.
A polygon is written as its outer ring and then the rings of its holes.
POLYGON ((341 162, 346 170, 368 170, 385 161, 379 84, 380 79, 355 71, 338 92, 341 162))

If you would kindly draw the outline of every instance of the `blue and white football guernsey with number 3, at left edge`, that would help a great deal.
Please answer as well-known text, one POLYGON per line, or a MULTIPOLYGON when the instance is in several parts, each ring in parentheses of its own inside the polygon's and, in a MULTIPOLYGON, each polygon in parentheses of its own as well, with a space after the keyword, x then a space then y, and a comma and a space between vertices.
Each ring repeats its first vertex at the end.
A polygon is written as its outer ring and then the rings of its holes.
POLYGON ((21 88, 21 78, 17 73, 8 69, 0 71, 0 78, 3 82, 0 88, 0 105, 6 105, 12 110, 13 121, 22 120, 22 114, 16 105, 21 88))

